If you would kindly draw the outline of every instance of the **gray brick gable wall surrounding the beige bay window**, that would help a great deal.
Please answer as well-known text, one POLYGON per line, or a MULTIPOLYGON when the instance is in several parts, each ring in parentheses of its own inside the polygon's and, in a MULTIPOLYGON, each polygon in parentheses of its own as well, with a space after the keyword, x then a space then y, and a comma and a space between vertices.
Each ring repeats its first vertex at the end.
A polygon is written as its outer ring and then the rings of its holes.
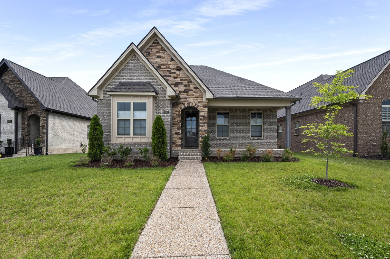
MULTIPOLYGON (((124 81, 139 81, 150 82, 154 88, 159 92, 155 99, 154 117, 161 115, 164 120, 165 128, 167 129, 167 152, 170 155, 170 114, 164 113, 164 111, 170 111, 170 100, 166 99, 165 88, 157 81, 156 78, 149 72, 145 65, 134 55, 126 65, 119 71, 119 73, 111 80, 107 87, 103 91, 103 99, 99 100, 98 115, 100 122, 103 126, 103 142, 105 145, 111 145, 113 148, 119 147, 121 144, 124 146, 130 146, 133 151, 131 156, 140 158, 137 147, 148 146, 151 148, 151 143, 113 143, 111 142, 111 96, 107 92, 117 86, 119 82, 124 81)), ((152 123, 152 122, 151 122, 152 123)), ((151 151, 150 151, 151 153, 151 151)))

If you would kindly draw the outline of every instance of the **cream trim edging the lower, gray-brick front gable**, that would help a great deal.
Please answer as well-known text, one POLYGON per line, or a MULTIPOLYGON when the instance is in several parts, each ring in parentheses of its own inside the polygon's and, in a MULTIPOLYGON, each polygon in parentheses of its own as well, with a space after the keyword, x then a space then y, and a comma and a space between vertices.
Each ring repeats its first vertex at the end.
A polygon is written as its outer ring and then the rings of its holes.
POLYGON ((151 74, 156 78, 159 83, 165 88, 166 97, 176 96, 176 91, 168 84, 168 82, 161 76, 161 74, 156 70, 155 67, 145 58, 145 56, 140 52, 140 50, 135 46, 133 42, 126 48, 126 50, 115 60, 111 67, 105 72, 105 74, 96 82, 96 84, 89 90, 89 95, 100 99, 103 96, 103 90, 111 82, 111 79, 115 77, 116 74, 126 65, 130 58, 134 55, 144 63, 145 67, 151 72, 151 74))

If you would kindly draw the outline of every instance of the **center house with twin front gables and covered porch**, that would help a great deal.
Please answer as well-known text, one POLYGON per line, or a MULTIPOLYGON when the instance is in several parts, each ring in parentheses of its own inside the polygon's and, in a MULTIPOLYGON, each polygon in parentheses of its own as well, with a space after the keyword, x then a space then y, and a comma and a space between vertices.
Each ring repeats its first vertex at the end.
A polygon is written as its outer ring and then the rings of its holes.
POLYGON ((186 149, 199 153, 207 132, 212 149, 277 149, 277 110, 301 99, 211 67, 189 66, 155 27, 129 45, 89 95, 99 100, 106 145, 131 146, 133 154, 136 147, 150 147, 153 120, 161 115, 168 157, 186 149))

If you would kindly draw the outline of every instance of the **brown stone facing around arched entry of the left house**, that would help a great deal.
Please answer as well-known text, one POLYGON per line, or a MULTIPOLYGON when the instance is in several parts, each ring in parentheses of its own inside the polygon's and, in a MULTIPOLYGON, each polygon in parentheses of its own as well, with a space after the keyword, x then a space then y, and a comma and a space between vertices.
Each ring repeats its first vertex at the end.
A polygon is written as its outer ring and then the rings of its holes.
MULTIPOLYGON (((30 137, 30 115, 38 115, 40 117, 40 134, 42 146, 46 145, 46 113, 39 109, 39 102, 32 96, 21 81, 14 75, 11 69, 7 69, 1 79, 7 84, 11 91, 18 97, 18 99, 27 107, 27 110, 21 111, 21 135, 30 137)), ((14 137, 12 137, 14 141, 14 137)))

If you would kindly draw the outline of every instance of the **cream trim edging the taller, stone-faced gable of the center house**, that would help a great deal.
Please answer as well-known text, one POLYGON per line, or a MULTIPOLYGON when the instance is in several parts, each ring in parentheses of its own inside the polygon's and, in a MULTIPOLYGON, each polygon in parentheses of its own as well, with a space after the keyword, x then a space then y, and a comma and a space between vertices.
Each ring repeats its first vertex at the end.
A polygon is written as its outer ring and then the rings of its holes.
POLYGON ((138 43, 137 47, 142 53, 152 44, 152 42, 158 39, 158 42, 164 47, 164 49, 169 53, 169 55, 179 64, 181 69, 188 75, 188 77, 195 83, 195 85, 203 92, 203 99, 212 99, 214 98, 213 92, 205 85, 202 79, 197 76, 197 74, 191 69, 191 67, 184 61, 184 59, 177 53, 176 49, 165 39, 165 37, 157 30, 156 27, 153 27, 150 32, 145 35, 144 39, 138 43))

